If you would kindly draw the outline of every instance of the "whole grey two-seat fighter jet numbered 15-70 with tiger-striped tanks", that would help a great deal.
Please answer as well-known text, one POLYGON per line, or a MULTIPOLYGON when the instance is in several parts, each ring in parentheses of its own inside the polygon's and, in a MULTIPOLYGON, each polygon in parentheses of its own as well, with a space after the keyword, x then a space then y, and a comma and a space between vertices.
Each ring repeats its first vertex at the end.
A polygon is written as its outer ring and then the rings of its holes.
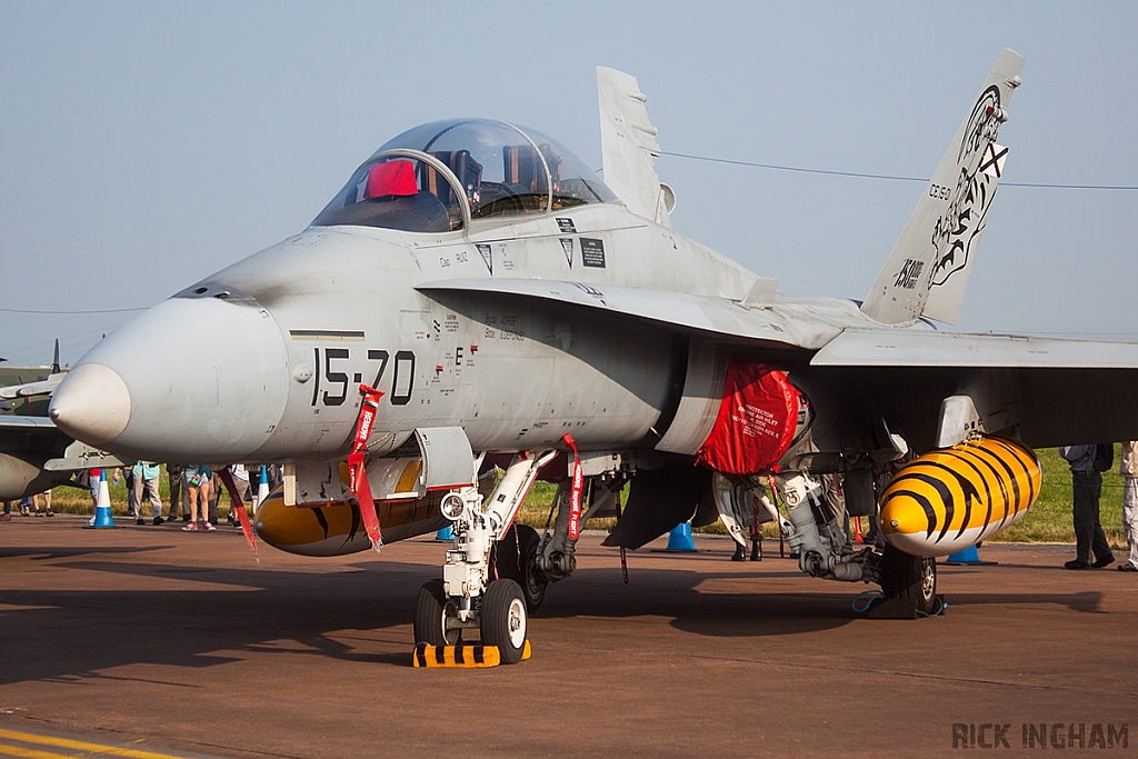
POLYGON ((452 523, 415 638, 478 630, 508 662, 601 510, 625 547, 761 512, 803 571, 931 611, 934 558, 1030 508, 1031 447, 1138 436, 1138 345, 935 325, 975 262, 1022 65, 999 55, 864 300, 783 295, 675 231, 646 98, 599 68, 603 181, 516 124, 412 129, 303 232, 102 340, 50 416, 127 460, 283 462, 254 522, 286 551, 452 523), (853 551, 826 479, 873 512, 873 473, 906 452, 924 455, 882 496, 890 546, 853 551), (538 477, 559 486, 543 535, 516 523, 538 477))

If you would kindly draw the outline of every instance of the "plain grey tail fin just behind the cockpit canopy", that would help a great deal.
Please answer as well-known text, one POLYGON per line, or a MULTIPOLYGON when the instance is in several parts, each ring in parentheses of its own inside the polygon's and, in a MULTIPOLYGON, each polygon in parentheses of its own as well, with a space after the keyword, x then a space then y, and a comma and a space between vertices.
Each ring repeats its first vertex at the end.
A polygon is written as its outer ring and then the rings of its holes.
POLYGON ((655 127, 648 119, 636 77, 613 68, 596 68, 596 94, 601 106, 601 154, 604 183, 630 212, 671 226, 668 214, 675 205, 655 173, 660 155, 655 127))

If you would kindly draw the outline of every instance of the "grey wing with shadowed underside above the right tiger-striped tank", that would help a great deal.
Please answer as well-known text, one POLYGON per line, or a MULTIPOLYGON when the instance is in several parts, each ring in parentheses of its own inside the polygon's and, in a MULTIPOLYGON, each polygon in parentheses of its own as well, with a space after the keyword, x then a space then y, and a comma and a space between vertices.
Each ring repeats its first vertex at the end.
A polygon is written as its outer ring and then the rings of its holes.
POLYGON ((890 426, 924 429, 923 448, 972 431, 1032 447, 1138 438, 1138 344, 1014 335, 847 329, 810 368, 872 378, 890 426), (932 439, 927 439, 932 436, 932 439))

